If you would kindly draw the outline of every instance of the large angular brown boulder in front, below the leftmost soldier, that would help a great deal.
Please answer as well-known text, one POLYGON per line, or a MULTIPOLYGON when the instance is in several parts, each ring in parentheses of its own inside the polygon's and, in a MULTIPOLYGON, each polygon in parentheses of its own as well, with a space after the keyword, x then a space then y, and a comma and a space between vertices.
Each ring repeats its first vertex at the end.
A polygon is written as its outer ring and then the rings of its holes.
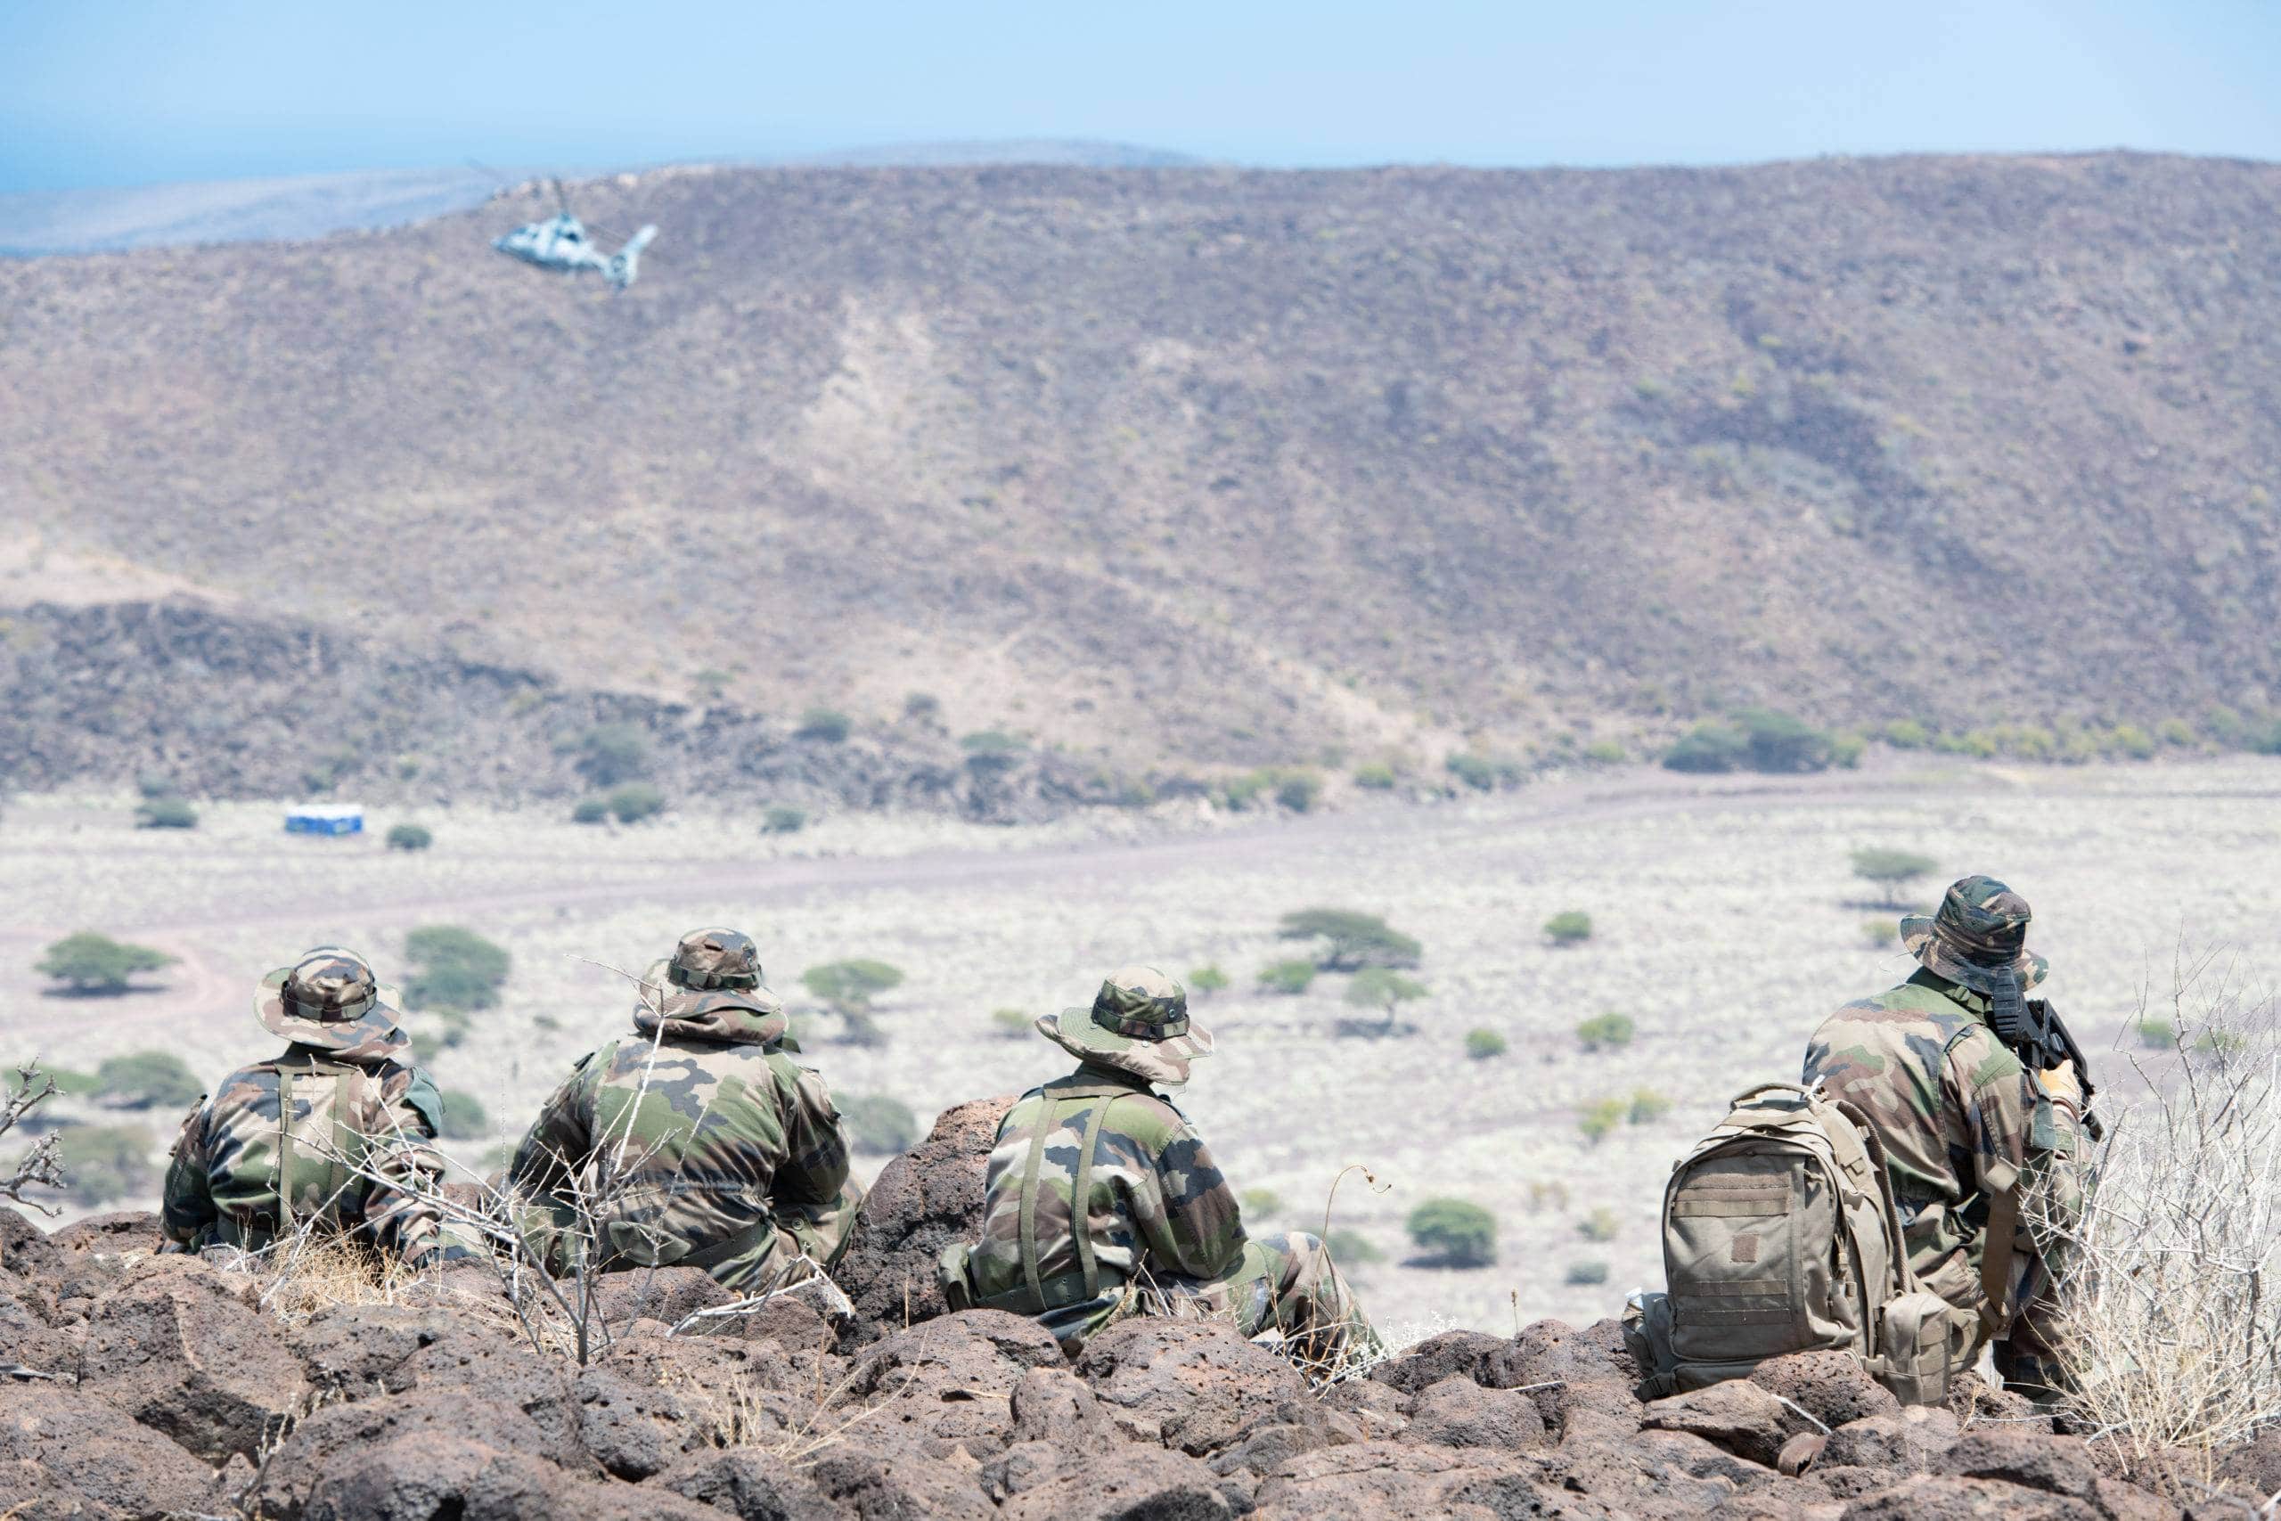
POLYGON ((103 1295, 80 1386, 214 1466, 258 1453, 310 1393, 278 1323, 253 1307, 251 1279, 194 1256, 135 1263, 103 1295))

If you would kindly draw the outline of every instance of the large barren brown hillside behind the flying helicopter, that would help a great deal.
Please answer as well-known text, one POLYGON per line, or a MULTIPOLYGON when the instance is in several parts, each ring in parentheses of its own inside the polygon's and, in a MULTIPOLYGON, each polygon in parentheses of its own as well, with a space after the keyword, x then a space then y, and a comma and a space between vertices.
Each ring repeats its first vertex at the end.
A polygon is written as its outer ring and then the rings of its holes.
POLYGON ((926 691, 1134 771, 2281 684, 2281 166, 575 201, 659 223, 625 296, 488 253, 511 201, 0 267, 0 597, 780 718, 926 691))

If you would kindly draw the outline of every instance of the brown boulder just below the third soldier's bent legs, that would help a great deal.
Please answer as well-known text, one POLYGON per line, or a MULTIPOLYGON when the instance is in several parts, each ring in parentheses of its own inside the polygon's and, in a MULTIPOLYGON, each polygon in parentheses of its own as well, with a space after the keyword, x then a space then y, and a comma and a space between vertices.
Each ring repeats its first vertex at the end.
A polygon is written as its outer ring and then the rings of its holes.
POLYGON ((1193 1457, 1284 1421, 1296 1400, 1312 1402, 1298 1368, 1227 1320, 1120 1320, 1086 1345, 1077 1375, 1120 1430, 1193 1457))

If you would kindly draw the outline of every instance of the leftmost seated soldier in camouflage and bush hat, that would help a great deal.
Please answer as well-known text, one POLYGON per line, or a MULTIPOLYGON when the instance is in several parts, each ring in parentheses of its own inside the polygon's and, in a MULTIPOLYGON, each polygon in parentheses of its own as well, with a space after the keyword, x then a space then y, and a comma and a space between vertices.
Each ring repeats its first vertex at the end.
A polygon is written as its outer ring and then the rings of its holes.
POLYGON ((433 1204, 443 1097, 411 1065, 370 962, 319 946, 262 978, 253 1012, 285 1054, 224 1079, 173 1142, 162 1222, 185 1250, 258 1252, 299 1227, 351 1234, 411 1263, 468 1256, 433 1204), (376 1177, 370 1177, 376 1174, 376 1177))

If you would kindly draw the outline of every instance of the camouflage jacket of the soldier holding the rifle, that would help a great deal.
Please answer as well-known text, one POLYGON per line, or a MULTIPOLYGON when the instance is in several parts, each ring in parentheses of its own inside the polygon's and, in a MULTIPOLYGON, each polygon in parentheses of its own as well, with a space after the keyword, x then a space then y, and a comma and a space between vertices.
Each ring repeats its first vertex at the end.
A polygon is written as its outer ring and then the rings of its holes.
POLYGON ((2037 1170, 2060 1145, 2044 1090, 1987 1026, 1984 994, 1918 971, 1848 1003, 1807 1044, 1804 1081, 1848 1099, 1884 1142, 1909 1266, 1978 1309, 1991 1179, 2037 1170))

